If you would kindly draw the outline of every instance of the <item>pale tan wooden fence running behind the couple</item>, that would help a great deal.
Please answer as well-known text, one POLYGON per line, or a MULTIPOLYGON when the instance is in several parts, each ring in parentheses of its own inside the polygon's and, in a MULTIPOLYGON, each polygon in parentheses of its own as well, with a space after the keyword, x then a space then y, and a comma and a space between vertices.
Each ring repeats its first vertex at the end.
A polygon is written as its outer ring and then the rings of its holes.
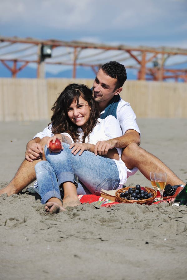
MULTIPOLYGON (((92 79, 0 78, 0 121, 50 119, 59 93, 72 82, 92 87, 92 79)), ((120 96, 137 118, 187 118, 187 83, 126 81, 120 96)))

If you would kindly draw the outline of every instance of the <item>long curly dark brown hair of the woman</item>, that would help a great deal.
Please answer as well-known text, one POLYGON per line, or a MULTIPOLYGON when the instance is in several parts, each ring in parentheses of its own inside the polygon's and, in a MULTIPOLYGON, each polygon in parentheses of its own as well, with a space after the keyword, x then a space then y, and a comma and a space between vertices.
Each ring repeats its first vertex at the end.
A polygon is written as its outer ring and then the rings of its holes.
POLYGON ((79 142, 79 133, 77 132, 79 127, 71 122, 67 114, 67 109, 74 101, 78 104, 80 96, 88 102, 91 108, 90 116, 86 123, 86 128, 83 131, 84 135, 82 141, 84 143, 85 138, 87 136, 89 138, 89 133, 92 132, 94 126, 98 122, 97 118, 99 117, 99 111, 93 99, 92 91, 88 88, 88 86, 83 84, 70 84, 66 86, 66 88, 60 93, 60 96, 57 98, 54 106, 51 109, 51 111, 53 111, 51 123, 52 133, 58 134, 67 132, 71 135, 74 142, 79 142))

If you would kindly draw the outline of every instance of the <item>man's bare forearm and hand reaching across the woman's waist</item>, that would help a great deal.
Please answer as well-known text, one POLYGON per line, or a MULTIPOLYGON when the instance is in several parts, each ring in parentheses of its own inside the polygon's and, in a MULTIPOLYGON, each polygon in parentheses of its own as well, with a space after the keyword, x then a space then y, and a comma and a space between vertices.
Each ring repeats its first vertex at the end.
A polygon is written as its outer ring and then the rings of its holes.
POLYGON ((104 156, 108 153, 109 149, 113 148, 125 148, 130 143, 136 143, 140 145, 140 134, 133 129, 129 129, 126 133, 120 137, 109 139, 107 141, 98 141, 94 147, 94 154, 104 156))

